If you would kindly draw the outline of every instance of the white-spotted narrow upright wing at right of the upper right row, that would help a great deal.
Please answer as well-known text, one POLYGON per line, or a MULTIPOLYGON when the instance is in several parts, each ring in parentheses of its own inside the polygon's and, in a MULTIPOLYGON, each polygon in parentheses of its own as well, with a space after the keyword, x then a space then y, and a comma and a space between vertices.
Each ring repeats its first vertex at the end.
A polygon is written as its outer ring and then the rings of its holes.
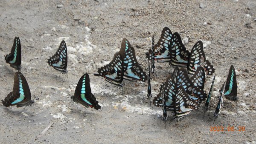
POLYGON ((205 58, 205 55, 204 55, 204 49, 203 49, 203 42, 199 40, 197 43, 195 43, 195 45, 193 46, 190 52, 190 57, 188 62, 189 74, 195 73, 196 69, 200 65, 201 57, 205 58))

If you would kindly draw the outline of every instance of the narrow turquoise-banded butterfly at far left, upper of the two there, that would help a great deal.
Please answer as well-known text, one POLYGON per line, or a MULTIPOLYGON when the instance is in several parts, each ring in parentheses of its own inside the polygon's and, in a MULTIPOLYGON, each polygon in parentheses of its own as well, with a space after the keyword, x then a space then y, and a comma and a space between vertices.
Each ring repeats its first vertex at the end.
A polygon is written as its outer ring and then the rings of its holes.
POLYGON ((19 70, 21 69, 21 46, 20 38, 15 37, 12 45, 12 50, 9 55, 5 55, 6 63, 9 63, 11 67, 19 70))

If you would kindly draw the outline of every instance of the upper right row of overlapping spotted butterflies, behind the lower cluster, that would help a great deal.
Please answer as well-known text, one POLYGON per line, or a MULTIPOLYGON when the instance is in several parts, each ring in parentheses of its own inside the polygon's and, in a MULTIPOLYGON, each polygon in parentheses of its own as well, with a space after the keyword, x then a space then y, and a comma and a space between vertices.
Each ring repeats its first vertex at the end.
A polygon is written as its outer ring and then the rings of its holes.
POLYGON ((172 34, 168 27, 163 28, 160 39, 154 45, 154 36, 152 48, 146 53, 146 58, 151 61, 151 72, 154 73, 154 60, 157 62, 169 62, 169 65, 186 67, 189 74, 194 74, 198 67, 203 67, 207 75, 212 75, 215 69, 206 60, 203 43, 199 40, 193 46, 191 52, 186 50, 178 32, 172 34))

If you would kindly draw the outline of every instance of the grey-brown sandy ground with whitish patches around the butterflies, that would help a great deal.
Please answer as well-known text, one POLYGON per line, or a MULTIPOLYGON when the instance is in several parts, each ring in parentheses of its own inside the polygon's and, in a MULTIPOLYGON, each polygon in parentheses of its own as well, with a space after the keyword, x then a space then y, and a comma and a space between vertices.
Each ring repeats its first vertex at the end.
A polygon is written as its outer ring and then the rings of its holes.
MULTIPOLYGON (((0 99, 13 88, 15 70, 4 60, 20 37, 22 73, 35 100, 32 107, 0 104, 0 143, 256 143, 256 0, 1 0, 0 99), (204 42, 215 67, 209 114, 202 108, 185 118, 162 121, 161 108, 149 105, 147 83, 125 81, 124 93, 97 69, 112 60, 127 38, 147 71, 145 52, 167 26, 188 37, 190 51, 204 42), (48 66, 61 40, 68 49, 68 78, 48 66), (230 65, 238 70, 239 104, 224 99, 213 124, 218 90, 230 65), (70 104, 79 78, 90 75, 92 93, 102 110, 70 104), (52 124, 53 123, 53 124, 52 124), (50 124, 49 130, 40 133, 50 124), (245 127, 245 132, 212 132, 211 126, 245 127)), ((153 95, 169 74, 168 63, 155 63, 153 95)), ((171 72, 174 67, 171 67, 171 72)), ((207 76, 209 92, 212 76, 207 76)), ((203 102, 204 104, 204 102, 203 102)))

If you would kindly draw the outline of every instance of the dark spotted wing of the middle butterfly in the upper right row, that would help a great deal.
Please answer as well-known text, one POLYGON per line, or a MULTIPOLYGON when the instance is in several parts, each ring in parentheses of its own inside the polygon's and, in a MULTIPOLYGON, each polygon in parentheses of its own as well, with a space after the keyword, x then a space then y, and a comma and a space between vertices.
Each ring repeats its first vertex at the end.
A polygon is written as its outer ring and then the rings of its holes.
POLYGON ((179 33, 175 32, 170 42, 170 65, 187 67, 190 53, 183 45, 179 33))

